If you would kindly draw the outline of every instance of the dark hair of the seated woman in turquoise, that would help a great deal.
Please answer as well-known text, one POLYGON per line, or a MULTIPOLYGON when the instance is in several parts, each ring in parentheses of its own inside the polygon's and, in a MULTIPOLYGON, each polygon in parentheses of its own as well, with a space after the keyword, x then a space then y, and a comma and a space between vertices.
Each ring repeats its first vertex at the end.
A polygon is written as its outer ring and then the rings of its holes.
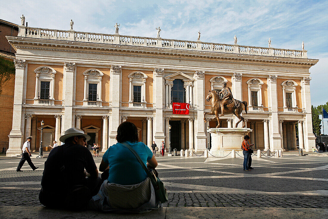
POLYGON ((132 122, 122 122, 117 128, 117 142, 139 141, 138 129, 132 122))

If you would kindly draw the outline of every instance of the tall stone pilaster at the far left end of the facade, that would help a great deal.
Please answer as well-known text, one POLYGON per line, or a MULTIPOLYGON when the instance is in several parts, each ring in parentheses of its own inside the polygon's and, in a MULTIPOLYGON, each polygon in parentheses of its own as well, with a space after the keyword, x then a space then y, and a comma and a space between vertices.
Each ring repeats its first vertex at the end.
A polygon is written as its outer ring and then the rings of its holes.
POLYGON ((26 72, 25 63, 25 60, 14 60, 16 72, 12 114, 12 129, 9 134, 9 148, 6 152, 6 156, 22 153, 21 147, 24 143, 22 130, 24 131, 25 125, 25 113, 22 113, 23 94, 25 92, 24 81, 26 81, 26 78, 24 78, 26 72))

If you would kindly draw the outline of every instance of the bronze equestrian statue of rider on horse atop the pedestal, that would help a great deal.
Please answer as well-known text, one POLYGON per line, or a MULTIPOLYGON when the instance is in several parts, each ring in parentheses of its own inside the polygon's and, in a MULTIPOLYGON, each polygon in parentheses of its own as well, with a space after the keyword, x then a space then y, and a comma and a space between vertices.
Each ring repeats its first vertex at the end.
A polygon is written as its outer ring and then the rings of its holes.
POLYGON ((205 115, 215 115, 216 120, 218 122, 218 125, 216 128, 220 128, 220 120, 219 116, 234 114, 239 121, 236 123, 235 128, 237 128, 239 122, 243 121, 242 128, 246 127, 245 119, 240 114, 243 111, 243 108, 245 107, 245 112, 247 114, 247 102, 240 100, 236 100, 233 98, 232 92, 229 87, 227 87, 227 84, 223 82, 223 89, 217 93, 216 90, 209 90, 209 93, 206 97, 206 101, 211 100, 211 112, 205 112, 204 113, 204 120, 205 115), (222 98, 220 97, 222 96, 222 98), (211 100, 212 99, 212 100, 211 100))

